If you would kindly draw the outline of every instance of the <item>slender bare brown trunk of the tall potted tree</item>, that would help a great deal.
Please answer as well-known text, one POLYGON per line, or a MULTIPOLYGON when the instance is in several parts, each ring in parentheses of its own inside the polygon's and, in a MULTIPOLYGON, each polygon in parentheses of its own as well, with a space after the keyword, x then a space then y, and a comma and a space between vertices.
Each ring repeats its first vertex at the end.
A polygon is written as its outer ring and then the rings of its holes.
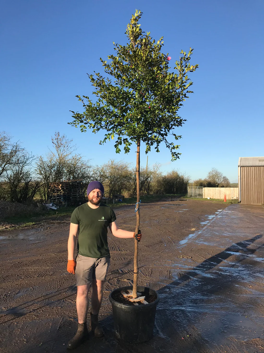
MULTIPOLYGON (((137 167, 136 167, 136 177, 137 177, 137 204, 136 204, 136 216, 137 224, 135 229, 135 234, 138 234, 140 217, 139 217, 139 170, 140 170, 140 140, 137 143, 137 167)), ((134 254, 134 281, 133 281, 133 298, 137 298, 137 286, 138 286, 138 241, 135 239, 135 254, 134 254)))

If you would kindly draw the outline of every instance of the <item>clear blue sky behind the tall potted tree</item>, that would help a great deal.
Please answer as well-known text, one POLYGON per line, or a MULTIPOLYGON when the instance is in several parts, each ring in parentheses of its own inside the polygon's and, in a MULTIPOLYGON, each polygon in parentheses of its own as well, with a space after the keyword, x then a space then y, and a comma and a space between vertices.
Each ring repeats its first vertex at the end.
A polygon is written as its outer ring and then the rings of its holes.
MULTIPOLYGON (((125 44, 135 9, 141 26, 164 37, 171 64, 194 48, 190 77, 194 94, 179 114, 187 119, 176 134, 179 160, 169 150, 149 153, 149 165, 205 178, 212 167, 237 182, 239 157, 264 155, 264 1, 69 1, 10 0, 1 3, 0 131, 44 155, 56 131, 65 134, 93 165, 109 159, 135 164, 135 153, 115 154, 99 145, 103 133, 81 133, 67 125, 70 110, 82 111, 75 95, 90 95, 86 73, 104 73, 100 57, 125 44)), ((171 65, 172 66, 172 65, 171 65)), ((141 154, 145 165, 147 157, 141 154)))

